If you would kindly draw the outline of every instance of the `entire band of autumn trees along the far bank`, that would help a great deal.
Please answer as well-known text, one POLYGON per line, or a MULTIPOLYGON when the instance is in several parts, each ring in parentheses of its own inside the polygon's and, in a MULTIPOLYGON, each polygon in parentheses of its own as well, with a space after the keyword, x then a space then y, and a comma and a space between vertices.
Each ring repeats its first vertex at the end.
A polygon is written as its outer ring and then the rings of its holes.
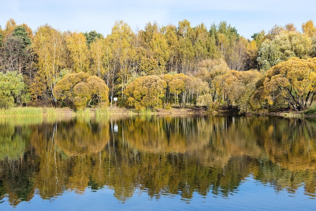
POLYGON ((251 40, 225 21, 208 28, 148 22, 111 34, 0 27, 0 107, 237 106, 241 113, 304 110, 315 94, 316 27, 275 25, 251 40), (91 77, 91 78, 90 78, 91 77), (88 81, 88 78, 89 81, 88 81))

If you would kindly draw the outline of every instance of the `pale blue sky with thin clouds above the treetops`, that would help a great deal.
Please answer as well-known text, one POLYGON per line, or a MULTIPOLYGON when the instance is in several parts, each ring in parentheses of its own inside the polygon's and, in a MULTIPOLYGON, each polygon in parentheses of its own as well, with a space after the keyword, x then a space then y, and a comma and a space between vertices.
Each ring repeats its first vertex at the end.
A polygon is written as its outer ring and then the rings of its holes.
POLYGON ((315 0, 3 0, 0 4, 0 25, 3 29, 13 18, 27 24, 33 31, 48 24, 60 31, 89 32, 107 36, 116 21, 123 20, 134 32, 144 29, 149 22, 160 27, 188 20, 191 27, 203 23, 226 21, 241 36, 265 30, 275 25, 294 24, 301 30, 302 23, 313 20, 316 25, 315 0))

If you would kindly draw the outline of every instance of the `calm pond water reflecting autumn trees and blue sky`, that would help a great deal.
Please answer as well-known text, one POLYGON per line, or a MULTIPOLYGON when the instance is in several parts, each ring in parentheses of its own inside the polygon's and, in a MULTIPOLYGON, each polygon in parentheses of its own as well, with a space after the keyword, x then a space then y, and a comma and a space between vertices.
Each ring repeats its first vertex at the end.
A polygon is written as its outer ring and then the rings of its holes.
POLYGON ((0 119, 0 210, 314 210, 316 119, 0 119))

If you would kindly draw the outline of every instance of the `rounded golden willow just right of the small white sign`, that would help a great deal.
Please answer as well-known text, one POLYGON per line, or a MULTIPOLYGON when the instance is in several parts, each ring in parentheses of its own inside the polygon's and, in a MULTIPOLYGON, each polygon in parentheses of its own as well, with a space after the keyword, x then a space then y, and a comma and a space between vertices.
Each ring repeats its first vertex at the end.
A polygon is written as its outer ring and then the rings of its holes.
POLYGON ((125 94, 129 106, 137 110, 162 106, 167 83, 156 75, 142 76, 129 83, 125 94))

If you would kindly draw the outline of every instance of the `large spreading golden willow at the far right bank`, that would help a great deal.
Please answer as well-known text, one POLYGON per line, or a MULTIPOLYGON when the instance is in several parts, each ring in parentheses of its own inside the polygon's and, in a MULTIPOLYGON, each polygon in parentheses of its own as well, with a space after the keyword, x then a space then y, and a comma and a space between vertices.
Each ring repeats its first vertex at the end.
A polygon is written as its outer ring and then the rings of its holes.
POLYGON ((316 58, 291 58, 267 71, 263 82, 264 99, 276 106, 284 100, 296 111, 307 109, 316 93, 316 58))

